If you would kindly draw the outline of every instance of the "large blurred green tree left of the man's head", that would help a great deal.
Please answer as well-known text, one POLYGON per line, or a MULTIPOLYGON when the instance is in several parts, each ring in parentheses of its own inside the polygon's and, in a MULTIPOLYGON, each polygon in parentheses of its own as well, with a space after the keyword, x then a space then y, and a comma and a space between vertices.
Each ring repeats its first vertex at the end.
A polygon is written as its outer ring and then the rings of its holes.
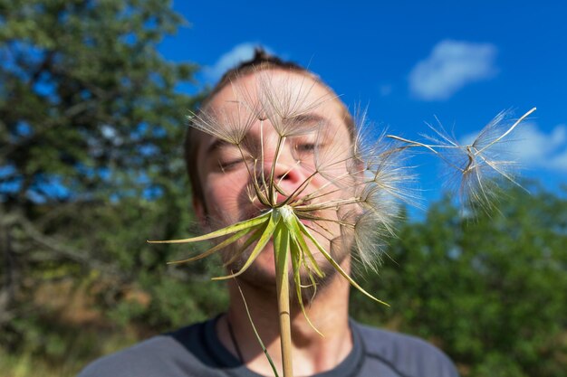
POLYGON ((157 50, 184 24, 161 0, 0 0, 3 346, 69 351, 37 304, 53 281, 89 282, 117 322, 155 328, 218 304, 187 284, 207 265, 168 270, 169 249, 145 243, 192 221, 180 140, 198 98, 176 85, 196 66, 157 50))

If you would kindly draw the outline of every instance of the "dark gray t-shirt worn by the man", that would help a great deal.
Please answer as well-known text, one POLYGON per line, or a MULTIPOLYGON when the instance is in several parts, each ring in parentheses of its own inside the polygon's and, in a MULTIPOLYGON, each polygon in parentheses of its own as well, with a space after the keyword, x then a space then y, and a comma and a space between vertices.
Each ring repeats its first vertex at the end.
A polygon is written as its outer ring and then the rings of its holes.
MULTIPOLYGON (((220 343, 215 331, 217 318, 103 357, 79 377, 260 377, 220 343)), ((354 321, 351 332, 351 353, 334 369, 316 377, 458 376, 447 356, 421 339, 354 321)))

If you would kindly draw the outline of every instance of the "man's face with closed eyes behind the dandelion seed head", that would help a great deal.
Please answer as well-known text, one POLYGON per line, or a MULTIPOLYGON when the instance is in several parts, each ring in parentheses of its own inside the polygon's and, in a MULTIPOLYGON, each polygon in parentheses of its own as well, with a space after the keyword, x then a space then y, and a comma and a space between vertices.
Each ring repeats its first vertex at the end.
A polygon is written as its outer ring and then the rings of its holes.
MULTIPOLYGON (((352 149, 344 108, 330 90, 308 75, 283 70, 248 74, 220 90, 208 102, 206 111, 228 128, 245 128, 245 138, 238 145, 199 135, 197 174, 205 203, 195 205, 207 226, 218 229, 269 210, 258 200, 253 183, 267 192, 266 182, 272 175, 280 188, 274 195, 275 203, 282 203, 293 193, 299 193, 295 201, 311 195, 309 203, 351 195, 344 188, 351 179, 348 165, 352 149)), ((348 255, 348 248, 334 248, 341 236, 337 222, 341 211, 348 209, 326 208, 312 213, 332 221, 303 220, 327 250, 334 250, 338 261, 348 255)), ((313 249, 322 269, 332 272, 313 249)), ((225 260, 230 259, 229 254, 230 250, 225 260)), ((238 269, 242 263, 237 260, 229 269, 238 269)), ((273 285, 274 277, 270 242, 243 278, 273 285)))

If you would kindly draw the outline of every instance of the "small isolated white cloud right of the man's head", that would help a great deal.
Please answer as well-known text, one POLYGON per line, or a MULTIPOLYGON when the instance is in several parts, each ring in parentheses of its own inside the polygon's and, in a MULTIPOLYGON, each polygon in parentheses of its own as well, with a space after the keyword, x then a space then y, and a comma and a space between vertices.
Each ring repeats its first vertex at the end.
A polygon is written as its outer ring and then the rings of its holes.
POLYGON ((495 55, 491 43, 438 42, 409 72, 409 90, 418 99, 448 99, 470 82, 494 77, 495 55))

